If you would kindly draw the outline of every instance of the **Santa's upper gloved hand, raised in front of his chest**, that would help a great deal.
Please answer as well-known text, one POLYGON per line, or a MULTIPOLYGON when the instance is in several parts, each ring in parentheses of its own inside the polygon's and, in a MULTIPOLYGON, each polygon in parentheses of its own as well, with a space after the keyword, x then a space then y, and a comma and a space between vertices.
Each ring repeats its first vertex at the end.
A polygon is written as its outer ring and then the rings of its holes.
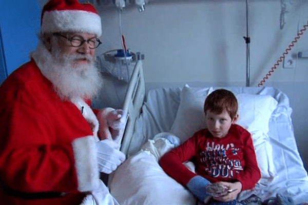
POLYGON ((125 128, 124 111, 121 109, 115 110, 113 108, 104 108, 98 113, 98 120, 100 124, 99 136, 102 139, 114 139, 118 141, 120 130, 125 128), (109 127, 112 128, 111 132, 109 127))

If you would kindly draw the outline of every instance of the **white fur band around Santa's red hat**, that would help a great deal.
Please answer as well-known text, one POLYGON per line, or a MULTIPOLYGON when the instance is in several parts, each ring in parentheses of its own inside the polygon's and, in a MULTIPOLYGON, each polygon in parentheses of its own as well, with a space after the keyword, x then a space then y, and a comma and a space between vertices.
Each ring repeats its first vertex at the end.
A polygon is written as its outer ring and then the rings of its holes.
POLYGON ((102 35, 101 17, 86 11, 46 11, 42 20, 42 33, 86 32, 102 35))

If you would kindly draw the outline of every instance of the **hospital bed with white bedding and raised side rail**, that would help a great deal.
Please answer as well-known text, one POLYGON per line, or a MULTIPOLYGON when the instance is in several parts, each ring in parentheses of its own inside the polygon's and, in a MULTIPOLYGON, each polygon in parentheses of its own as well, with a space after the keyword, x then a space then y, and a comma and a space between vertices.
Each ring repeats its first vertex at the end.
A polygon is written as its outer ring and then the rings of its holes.
MULTIPOLYGON (((172 148, 160 136, 171 134, 183 142, 202 129, 203 101, 215 89, 183 85, 152 89, 145 96, 142 61, 137 62, 123 106, 127 123, 121 150, 127 160, 108 181, 120 204, 196 204, 195 197, 160 168, 159 157, 172 148)), ((297 149, 288 97, 272 87, 225 89, 238 98, 238 124, 252 133, 261 170, 255 189, 243 191, 238 200, 256 195, 264 201, 280 194, 295 204, 308 202, 308 176, 297 149)), ((194 169, 189 162, 187 166, 194 169)))

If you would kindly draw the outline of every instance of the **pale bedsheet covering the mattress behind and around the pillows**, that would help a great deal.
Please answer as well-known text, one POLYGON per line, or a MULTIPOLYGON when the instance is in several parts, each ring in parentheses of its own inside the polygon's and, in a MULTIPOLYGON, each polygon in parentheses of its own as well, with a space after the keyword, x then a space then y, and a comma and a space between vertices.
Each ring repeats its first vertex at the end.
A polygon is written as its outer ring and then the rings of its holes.
MULTIPOLYGON (((287 96, 279 90, 269 87, 228 89, 237 94, 267 94, 278 101, 277 108, 269 120, 268 132, 273 147, 273 159, 277 174, 266 187, 259 184, 254 190, 242 192, 239 199, 256 194, 265 200, 280 193, 292 197, 296 204, 308 202, 308 176, 297 150, 291 120, 292 108, 290 108, 287 96)), ((182 88, 163 88, 148 92, 146 102, 142 107, 142 114, 136 121, 128 150, 130 155, 137 153, 141 146, 157 133, 170 131, 180 104, 181 90, 182 88)))

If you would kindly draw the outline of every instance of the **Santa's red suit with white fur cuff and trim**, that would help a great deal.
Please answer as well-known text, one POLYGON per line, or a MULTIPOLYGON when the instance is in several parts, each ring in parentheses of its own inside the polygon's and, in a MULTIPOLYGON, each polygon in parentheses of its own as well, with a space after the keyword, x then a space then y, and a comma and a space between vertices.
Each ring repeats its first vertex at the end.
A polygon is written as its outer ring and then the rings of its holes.
POLYGON ((79 204, 99 178, 98 125, 82 113, 88 105, 60 98, 33 59, 4 81, 0 96, 0 203, 79 204))

